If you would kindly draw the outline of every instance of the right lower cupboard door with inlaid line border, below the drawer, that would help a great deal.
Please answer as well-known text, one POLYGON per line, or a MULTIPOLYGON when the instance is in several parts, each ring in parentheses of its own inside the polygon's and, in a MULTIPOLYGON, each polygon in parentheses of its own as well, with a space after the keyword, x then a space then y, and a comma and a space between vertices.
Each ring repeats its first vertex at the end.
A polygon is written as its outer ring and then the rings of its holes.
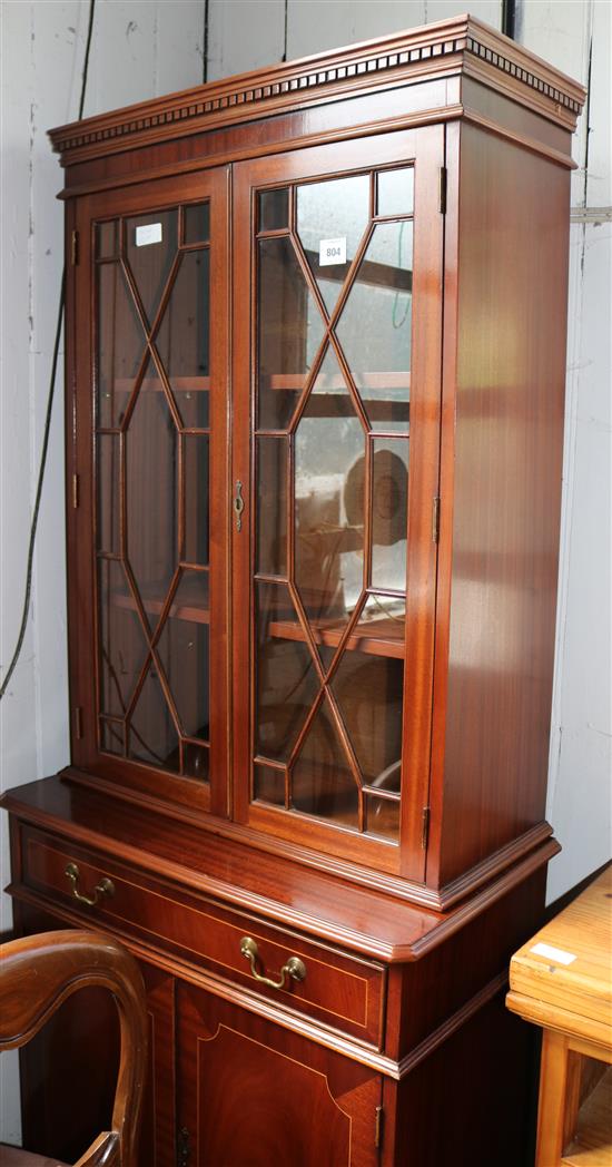
POLYGON ((378 1074, 211 993, 176 991, 181 1165, 378 1163, 378 1074))

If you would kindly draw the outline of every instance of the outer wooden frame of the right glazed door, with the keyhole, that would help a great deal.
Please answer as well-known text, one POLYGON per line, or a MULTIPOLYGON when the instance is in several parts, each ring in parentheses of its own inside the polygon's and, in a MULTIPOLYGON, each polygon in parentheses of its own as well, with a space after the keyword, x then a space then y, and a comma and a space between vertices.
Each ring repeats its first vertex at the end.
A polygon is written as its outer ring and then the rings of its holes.
POLYGON ((233 761, 234 818, 298 846, 314 847, 365 867, 422 881, 423 809, 430 768, 434 626, 437 547, 431 533, 438 494, 442 392, 442 289, 444 217, 439 211, 439 169, 444 127, 356 138, 272 158, 239 162, 233 169, 233 349, 234 386, 232 480, 241 483, 241 530, 232 525, 233 579, 233 761), (403 686, 400 845, 387 844, 302 813, 251 802, 251 727, 254 713, 253 567, 255 555, 255 204, 261 188, 316 177, 343 177, 377 167, 415 166, 410 471, 408 503, 408 612, 403 686), (248 275, 247 275, 248 273, 248 275))

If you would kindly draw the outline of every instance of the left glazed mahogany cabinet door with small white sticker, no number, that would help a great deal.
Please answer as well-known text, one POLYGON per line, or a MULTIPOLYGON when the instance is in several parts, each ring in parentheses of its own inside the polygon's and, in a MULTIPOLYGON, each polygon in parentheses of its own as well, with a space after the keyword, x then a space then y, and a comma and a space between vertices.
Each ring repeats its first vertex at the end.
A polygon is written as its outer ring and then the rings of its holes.
POLYGON ((76 230, 72 756, 226 815, 227 173, 84 198, 76 230))

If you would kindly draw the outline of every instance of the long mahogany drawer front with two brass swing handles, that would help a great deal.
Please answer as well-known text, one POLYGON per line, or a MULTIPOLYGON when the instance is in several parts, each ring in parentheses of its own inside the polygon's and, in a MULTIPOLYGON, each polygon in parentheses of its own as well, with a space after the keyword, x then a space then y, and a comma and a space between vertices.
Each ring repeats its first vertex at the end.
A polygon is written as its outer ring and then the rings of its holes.
POLYGON ((384 966, 36 830, 23 831, 22 862, 27 887, 44 893, 83 921, 143 941, 276 1005, 381 1047, 384 966), (66 875, 69 864, 78 869, 75 879, 66 875), (112 894, 105 880, 112 882, 112 894), (97 887, 107 890, 96 893, 97 887), (97 903, 87 906, 76 892, 91 899, 97 895, 97 903), (260 976, 279 980, 283 965, 296 957, 304 965, 304 979, 286 974, 282 988, 256 980, 241 952, 245 937, 256 945, 254 965, 260 976))

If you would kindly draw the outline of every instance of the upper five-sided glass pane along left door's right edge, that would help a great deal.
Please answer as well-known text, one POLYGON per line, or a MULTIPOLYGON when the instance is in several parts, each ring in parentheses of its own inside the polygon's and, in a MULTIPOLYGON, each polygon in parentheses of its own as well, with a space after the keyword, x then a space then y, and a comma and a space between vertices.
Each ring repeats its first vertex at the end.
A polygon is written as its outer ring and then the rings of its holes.
POLYGON ((210 253, 189 251, 181 266, 155 347, 188 429, 209 426, 210 253))

